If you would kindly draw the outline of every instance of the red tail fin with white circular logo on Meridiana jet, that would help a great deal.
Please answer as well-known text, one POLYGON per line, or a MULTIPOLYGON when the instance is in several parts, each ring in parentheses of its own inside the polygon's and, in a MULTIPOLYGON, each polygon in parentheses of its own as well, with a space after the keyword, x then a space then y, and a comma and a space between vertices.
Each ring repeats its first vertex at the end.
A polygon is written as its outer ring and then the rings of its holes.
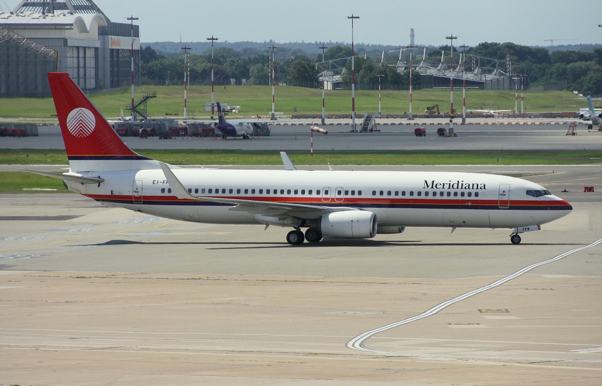
MULTIPOLYGON (((69 74, 48 73, 69 161, 146 160, 119 138, 69 74)), ((88 169, 90 170, 90 169, 88 169)))

